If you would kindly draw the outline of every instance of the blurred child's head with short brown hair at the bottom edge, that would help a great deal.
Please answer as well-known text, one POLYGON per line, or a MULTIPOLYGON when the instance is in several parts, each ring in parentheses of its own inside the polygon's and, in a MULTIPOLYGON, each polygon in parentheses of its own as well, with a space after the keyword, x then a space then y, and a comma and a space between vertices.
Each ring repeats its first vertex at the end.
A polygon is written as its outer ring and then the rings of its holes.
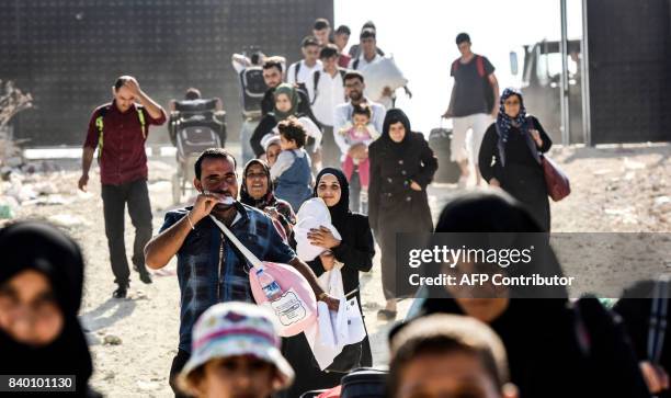
POLYGON ((503 343, 474 318, 419 318, 397 331, 390 345, 390 398, 518 397, 503 343))

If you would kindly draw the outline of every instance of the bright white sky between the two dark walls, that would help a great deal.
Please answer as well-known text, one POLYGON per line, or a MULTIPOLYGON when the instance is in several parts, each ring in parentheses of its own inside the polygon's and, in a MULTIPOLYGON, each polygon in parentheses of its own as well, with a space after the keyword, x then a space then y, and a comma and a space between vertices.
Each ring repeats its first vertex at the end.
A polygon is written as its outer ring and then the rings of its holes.
MULTIPOLYGON (((581 0, 568 0, 568 36, 582 32, 581 0)), ((377 45, 393 54, 410 81, 408 100, 397 92, 396 105, 408 113, 412 129, 428 134, 440 124, 450 102, 453 80, 450 66, 459 56, 454 39, 467 32, 473 50, 485 55, 496 67, 501 89, 519 87, 511 75, 510 52, 523 62, 523 44, 544 38, 559 39, 559 0, 334 0, 336 27, 350 26, 350 45, 359 42, 361 26, 372 20, 377 45)))

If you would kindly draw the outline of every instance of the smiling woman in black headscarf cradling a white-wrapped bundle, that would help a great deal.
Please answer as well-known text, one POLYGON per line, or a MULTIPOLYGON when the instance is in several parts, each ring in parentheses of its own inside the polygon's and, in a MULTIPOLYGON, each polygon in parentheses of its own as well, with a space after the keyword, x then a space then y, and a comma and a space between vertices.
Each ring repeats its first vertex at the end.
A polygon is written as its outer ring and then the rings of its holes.
MULTIPOLYGON (((368 225, 368 217, 350 212, 350 185, 348 179, 339 169, 326 168, 317 174, 315 196, 321 197, 331 214, 331 224, 340 232, 341 240, 333 237, 327 228, 315 229, 308 234, 312 245, 330 251, 308 262, 317 276, 330 270, 334 262, 343 264, 342 287, 348 295, 356 296, 361 308, 361 294, 359 292, 359 273, 368 272, 373 266, 375 243, 368 225)), ((344 374, 337 372, 321 372, 312 357, 310 348, 300 333, 297 337, 284 339, 283 354, 296 369, 294 385, 287 390, 287 397, 299 397, 300 394, 312 390, 330 388, 340 384, 344 374)), ((362 342, 361 366, 372 366, 373 355, 368 337, 362 342)))

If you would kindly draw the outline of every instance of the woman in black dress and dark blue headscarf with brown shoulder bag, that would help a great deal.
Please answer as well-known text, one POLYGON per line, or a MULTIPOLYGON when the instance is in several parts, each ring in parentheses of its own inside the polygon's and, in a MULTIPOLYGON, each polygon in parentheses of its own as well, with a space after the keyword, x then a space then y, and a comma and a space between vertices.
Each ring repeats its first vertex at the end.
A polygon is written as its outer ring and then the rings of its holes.
POLYGON ((544 231, 550 229, 550 212, 539 153, 551 146, 541 122, 526 115, 522 93, 505 89, 497 121, 482 138, 480 174, 490 185, 522 202, 544 231))

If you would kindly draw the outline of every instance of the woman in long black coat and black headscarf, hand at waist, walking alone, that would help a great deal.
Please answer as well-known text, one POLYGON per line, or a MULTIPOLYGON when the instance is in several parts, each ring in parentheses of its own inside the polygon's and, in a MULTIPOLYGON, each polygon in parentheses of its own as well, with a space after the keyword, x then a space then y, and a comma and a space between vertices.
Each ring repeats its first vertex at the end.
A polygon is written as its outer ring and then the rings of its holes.
POLYGON ((410 129, 403 111, 387 112, 382 136, 368 147, 371 185, 368 217, 382 249, 383 288, 387 305, 379 319, 396 318, 396 234, 431 232, 427 186, 437 160, 424 136, 410 129))

